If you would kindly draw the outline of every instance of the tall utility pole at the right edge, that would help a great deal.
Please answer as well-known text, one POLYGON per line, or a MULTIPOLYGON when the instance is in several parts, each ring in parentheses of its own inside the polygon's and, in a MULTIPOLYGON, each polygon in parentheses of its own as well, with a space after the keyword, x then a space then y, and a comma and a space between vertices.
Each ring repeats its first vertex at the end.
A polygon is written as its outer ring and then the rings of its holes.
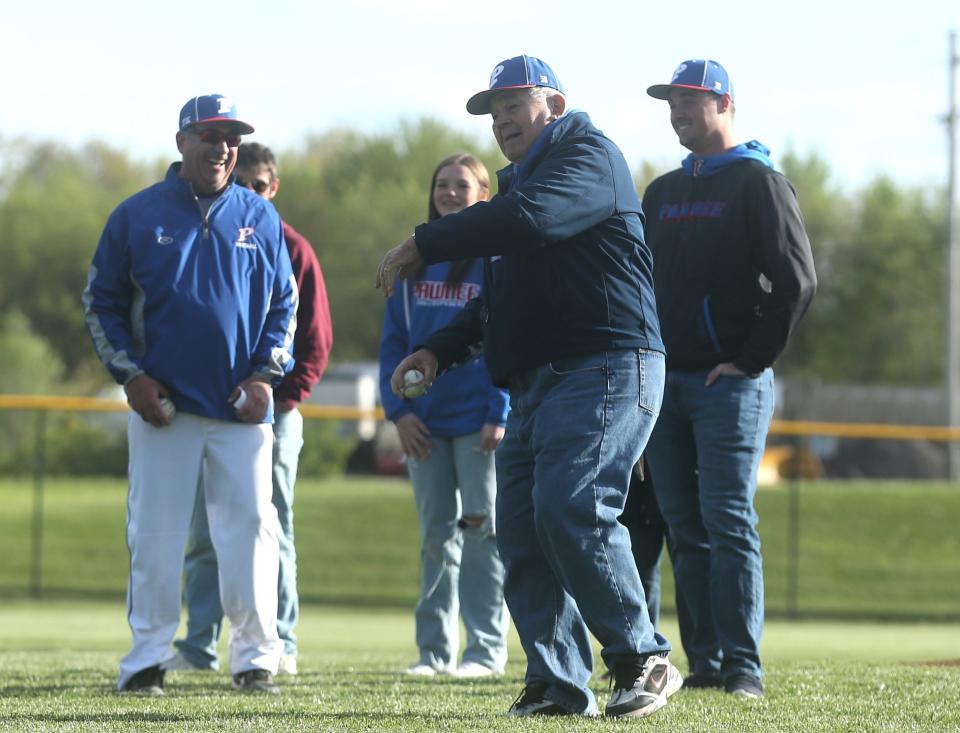
MULTIPOLYGON (((960 427, 960 232, 957 231, 957 32, 950 32, 947 111, 947 419, 960 427)), ((950 480, 960 478, 960 441, 950 441, 950 480)))

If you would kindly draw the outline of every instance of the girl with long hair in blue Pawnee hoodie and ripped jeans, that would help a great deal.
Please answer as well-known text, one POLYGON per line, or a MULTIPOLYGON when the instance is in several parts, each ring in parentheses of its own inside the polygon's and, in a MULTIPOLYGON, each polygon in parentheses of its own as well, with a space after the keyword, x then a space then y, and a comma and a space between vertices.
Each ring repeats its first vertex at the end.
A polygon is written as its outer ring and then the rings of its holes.
MULTIPOLYGON (((490 197, 489 175, 472 155, 444 158, 430 184, 429 220, 490 197)), ((380 394, 407 457, 420 520, 421 581, 416 608, 419 659, 409 674, 481 677, 503 672, 507 613, 494 533, 493 452, 503 438, 509 397, 483 360, 441 375, 416 400, 390 389, 397 364, 480 293, 479 260, 425 266, 387 301, 380 340, 380 394), (456 664, 459 615, 467 631, 456 664)))

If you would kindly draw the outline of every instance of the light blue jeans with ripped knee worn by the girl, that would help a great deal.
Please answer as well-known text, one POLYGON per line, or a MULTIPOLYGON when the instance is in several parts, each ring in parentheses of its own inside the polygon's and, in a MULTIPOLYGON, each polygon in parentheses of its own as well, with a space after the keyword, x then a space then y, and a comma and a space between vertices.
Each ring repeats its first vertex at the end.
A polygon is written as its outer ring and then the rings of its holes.
POLYGON ((508 622, 494 532, 493 455, 478 450, 479 432, 430 441, 428 458, 407 462, 420 519, 419 663, 437 670, 454 664, 462 615, 463 661, 500 672, 507 661, 508 622), (482 521, 470 526, 461 517, 482 521))

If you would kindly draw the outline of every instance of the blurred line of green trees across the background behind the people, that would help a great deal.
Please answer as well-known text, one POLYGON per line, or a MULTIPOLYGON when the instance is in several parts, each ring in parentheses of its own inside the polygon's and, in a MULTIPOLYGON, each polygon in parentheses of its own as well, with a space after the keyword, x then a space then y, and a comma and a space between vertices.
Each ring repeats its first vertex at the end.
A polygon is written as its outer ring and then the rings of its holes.
MULTIPOLYGON (((265 138, 254 136, 270 144, 265 138)), ((496 147, 432 119, 365 135, 331 130, 276 149, 280 214, 317 251, 334 320, 333 361, 375 359, 383 302, 373 287, 386 250, 426 218, 437 161, 472 152, 491 176, 496 147)), ((677 158, 681 149, 677 148, 677 158)), ((107 383, 80 294, 100 232, 126 196, 177 159, 143 162, 93 142, 0 141, 0 392, 77 393, 107 383)), ((945 202, 942 191, 880 176, 849 192, 816 154, 787 154, 820 288, 778 373, 826 382, 937 386, 944 374, 945 202)), ((662 171, 636 170, 638 189, 662 171)), ((492 182, 495 187, 495 182, 492 182)))

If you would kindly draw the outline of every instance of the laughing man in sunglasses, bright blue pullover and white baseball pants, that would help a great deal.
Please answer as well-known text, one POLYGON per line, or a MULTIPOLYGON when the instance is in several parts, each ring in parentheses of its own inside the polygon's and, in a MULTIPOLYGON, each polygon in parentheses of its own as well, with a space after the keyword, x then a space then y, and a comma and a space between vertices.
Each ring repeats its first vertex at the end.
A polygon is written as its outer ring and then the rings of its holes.
POLYGON ((133 644, 117 686, 163 692, 202 472, 233 684, 275 693, 271 385, 292 366, 296 282, 276 210, 232 183, 240 136, 253 127, 219 94, 189 100, 178 123, 182 161, 114 210, 83 293, 94 348, 131 408, 133 644))

